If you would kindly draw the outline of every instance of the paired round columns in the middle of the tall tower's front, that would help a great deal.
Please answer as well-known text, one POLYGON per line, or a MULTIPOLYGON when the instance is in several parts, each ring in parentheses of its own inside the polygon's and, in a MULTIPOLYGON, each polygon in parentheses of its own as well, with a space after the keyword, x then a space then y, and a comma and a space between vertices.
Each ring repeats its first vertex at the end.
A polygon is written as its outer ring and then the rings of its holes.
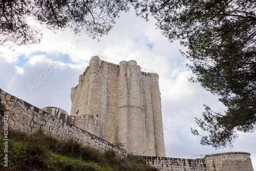
POLYGON ((121 61, 117 85, 117 142, 127 152, 146 155, 145 112, 140 67, 135 60, 121 61))

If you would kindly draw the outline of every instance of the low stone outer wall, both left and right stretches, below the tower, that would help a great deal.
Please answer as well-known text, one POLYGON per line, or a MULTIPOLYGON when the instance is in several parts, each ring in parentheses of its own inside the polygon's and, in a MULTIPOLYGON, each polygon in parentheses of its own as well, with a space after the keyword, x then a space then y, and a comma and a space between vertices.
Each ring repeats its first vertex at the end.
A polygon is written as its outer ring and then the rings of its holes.
MULTIPOLYGON (((105 152, 113 149, 119 156, 127 152, 114 144, 88 133, 76 126, 76 117, 67 115, 61 109, 36 106, 18 99, 0 89, 0 127, 8 120, 9 128, 28 134, 42 131, 58 139, 74 139, 84 146, 92 146, 105 152)), ((85 116, 85 118, 91 118, 85 116)), ((86 119, 87 120, 87 119, 86 119)), ((179 159, 169 157, 142 156, 150 165, 168 171, 253 171, 249 153, 230 152, 206 155, 203 159, 179 159)))

